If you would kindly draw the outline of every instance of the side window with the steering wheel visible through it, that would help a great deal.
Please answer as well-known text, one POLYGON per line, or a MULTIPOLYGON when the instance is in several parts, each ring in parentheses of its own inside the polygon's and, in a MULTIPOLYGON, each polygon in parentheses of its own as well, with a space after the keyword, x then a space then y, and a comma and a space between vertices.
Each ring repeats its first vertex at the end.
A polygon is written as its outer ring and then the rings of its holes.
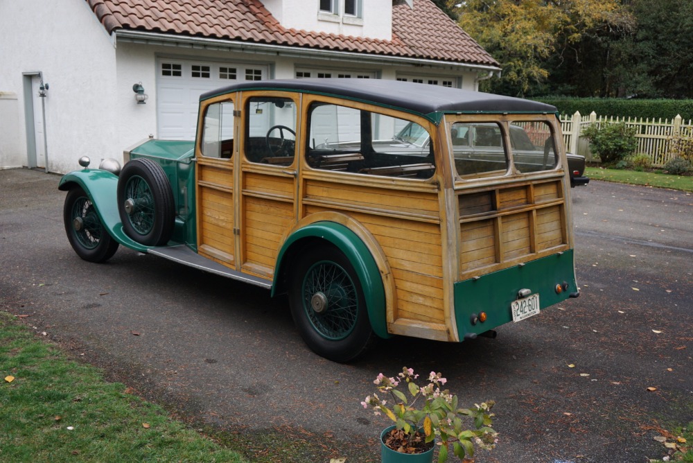
POLYGON ((254 96, 245 105, 245 157, 290 166, 296 152, 296 105, 291 98, 254 96))

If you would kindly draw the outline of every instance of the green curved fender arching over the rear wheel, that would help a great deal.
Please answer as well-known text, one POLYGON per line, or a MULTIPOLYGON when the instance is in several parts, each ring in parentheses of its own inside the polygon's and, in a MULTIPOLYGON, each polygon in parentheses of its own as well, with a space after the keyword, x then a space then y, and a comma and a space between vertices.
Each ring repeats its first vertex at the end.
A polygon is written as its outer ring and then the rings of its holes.
POLYGON ((391 335, 387 333, 385 315, 385 289, 383 288, 383 279, 380 278, 378 265, 376 265, 373 255, 363 241, 349 228, 336 222, 311 223, 294 231, 286 239, 279 250, 277 265, 274 266, 275 284, 272 285, 272 296, 277 291, 277 281, 280 281, 281 270, 285 264, 283 258, 292 245, 304 238, 319 238, 328 241, 347 256, 361 282, 371 328, 380 338, 390 338, 391 335))

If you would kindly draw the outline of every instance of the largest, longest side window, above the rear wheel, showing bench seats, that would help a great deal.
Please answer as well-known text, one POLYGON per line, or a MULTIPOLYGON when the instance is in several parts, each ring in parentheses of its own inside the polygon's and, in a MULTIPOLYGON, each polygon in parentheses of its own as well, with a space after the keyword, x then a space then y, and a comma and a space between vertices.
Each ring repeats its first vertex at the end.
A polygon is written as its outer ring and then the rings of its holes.
POLYGON ((428 179, 435 173, 430 134, 387 114, 313 103, 306 161, 323 171, 428 179))

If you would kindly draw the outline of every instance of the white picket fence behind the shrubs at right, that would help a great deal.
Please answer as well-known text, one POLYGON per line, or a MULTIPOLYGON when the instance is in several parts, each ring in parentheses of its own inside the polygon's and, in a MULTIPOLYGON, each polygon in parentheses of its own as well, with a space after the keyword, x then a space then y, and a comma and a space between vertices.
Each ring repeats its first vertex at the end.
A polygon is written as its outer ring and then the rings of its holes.
POLYGON ((595 161, 592 152, 590 151, 590 143, 584 137, 581 137, 582 131, 588 125, 597 123, 616 123, 624 122, 629 127, 635 127, 638 131, 635 137, 638 139, 638 148, 633 154, 643 153, 651 159, 652 165, 662 167, 667 164, 673 155, 669 152, 669 144, 676 137, 693 137, 693 120, 685 121, 678 115, 671 121, 669 119, 655 120, 652 119, 631 119, 619 117, 597 116, 593 111, 588 116, 582 116, 579 112, 575 112, 572 116, 561 116, 561 129, 563 130, 563 143, 565 149, 569 152, 575 152, 584 155, 587 161, 595 161))

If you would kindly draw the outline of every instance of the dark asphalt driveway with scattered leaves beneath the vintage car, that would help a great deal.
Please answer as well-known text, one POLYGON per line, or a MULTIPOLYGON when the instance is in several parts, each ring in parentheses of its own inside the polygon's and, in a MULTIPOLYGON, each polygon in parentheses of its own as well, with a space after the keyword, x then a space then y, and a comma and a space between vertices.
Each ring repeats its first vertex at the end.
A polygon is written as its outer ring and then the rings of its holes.
POLYGON ((495 340, 395 338, 339 365, 304 346, 266 290, 123 247, 80 260, 59 178, 0 171, 0 308, 185 417, 303 433, 325 447, 305 461, 376 461, 387 423, 359 402, 379 372, 407 366, 442 372, 462 403, 495 399, 500 442, 477 462, 645 462, 666 455, 658 427, 693 420, 690 193, 574 189, 579 299, 495 340))

